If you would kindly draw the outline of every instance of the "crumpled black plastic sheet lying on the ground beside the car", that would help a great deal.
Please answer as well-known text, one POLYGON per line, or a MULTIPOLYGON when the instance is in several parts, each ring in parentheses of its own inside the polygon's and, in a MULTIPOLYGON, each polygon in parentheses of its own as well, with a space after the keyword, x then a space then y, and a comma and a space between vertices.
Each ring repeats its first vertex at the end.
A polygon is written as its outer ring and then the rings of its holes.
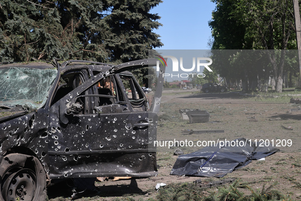
POLYGON ((265 146, 258 141, 250 143, 250 140, 245 138, 233 140, 231 144, 220 147, 220 143, 191 154, 181 155, 170 174, 221 178, 235 169, 248 165, 252 160, 259 160, 279 151, 278 148, 265 146))

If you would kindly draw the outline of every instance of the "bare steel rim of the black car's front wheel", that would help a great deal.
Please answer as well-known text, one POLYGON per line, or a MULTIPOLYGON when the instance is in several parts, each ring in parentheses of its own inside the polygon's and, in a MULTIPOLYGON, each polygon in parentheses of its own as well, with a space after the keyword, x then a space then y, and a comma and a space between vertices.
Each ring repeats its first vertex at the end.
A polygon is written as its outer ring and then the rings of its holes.
POLYGON ((31 169, 21 169, 11 174, 3 185, 5 200, 30 201, 36 191, 36 175, 31 169))

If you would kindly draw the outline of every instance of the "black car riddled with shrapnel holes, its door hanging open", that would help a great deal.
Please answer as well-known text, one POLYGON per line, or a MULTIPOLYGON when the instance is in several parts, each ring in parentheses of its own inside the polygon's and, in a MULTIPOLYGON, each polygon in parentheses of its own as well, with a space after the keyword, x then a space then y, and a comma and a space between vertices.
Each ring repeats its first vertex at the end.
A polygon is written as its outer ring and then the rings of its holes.
POLYGON ((57 179, 156 175, 165 69, 151 106, 128 71, 156 61, 0 65, 0 200, 45 200, 57 179))

